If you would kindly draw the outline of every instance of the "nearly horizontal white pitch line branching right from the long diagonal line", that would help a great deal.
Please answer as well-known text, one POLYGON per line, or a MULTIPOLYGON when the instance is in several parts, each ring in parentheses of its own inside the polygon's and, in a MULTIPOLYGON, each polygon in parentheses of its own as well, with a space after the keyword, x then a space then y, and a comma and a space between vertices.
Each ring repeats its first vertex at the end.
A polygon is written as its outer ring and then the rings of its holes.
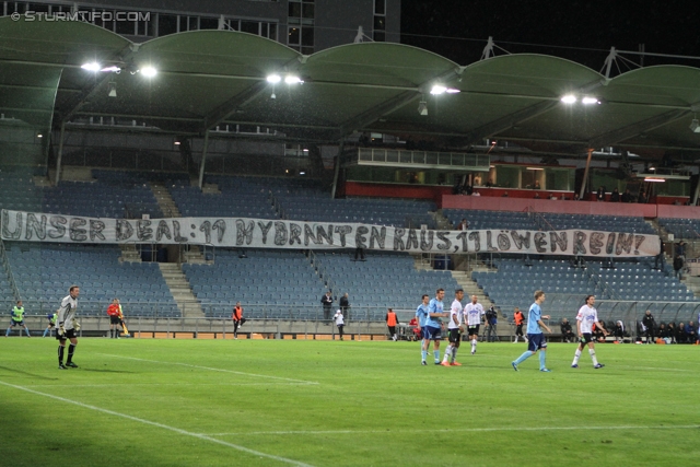
POLYGON ((492 431, 555 431, 555 430, 695 430, 700 424, 681 425, 617 425, 617 427, 500 427, 500 428, 464 428, 438 430, 327 430, 327 431, 242 431, 234 433, 210 433, 208 436, 242 436, 246 434, 375 434, 375 433, 454 433, 454 432, 492 432, 492 431))

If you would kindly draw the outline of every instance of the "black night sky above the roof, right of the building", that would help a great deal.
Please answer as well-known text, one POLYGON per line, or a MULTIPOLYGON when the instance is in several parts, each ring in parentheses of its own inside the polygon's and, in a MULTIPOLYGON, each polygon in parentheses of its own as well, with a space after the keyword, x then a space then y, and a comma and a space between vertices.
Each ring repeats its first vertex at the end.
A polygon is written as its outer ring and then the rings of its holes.
MULTIPOLYGON (((512 54, 553 55, 599 71, 611 46, 639 50, 644 44, 646 52, 700 56, 700 3, 404 0, 401 33, 402 44, 459 65, 478 60, 488 36, 493 36, 512 54)), ((639 57, 627 58, 639 62, 639 57)), ((644 66, 661 63, 700 67, 700 60, 644 58, 644 66)))

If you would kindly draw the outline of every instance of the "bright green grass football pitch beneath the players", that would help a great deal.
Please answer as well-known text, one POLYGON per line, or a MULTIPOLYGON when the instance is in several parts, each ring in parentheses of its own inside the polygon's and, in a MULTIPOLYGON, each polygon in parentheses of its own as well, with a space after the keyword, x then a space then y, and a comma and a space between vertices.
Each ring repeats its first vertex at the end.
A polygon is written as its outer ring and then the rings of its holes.
POLYGON ((1 339, 0 465, 698 462, 698 347, 604 345, 605 369, 573 370, 553 343, 545 374, 513 371, 522 343, 463 346, 462 367, 418 346, 93 338, 59 371, 54 339, 1 339))

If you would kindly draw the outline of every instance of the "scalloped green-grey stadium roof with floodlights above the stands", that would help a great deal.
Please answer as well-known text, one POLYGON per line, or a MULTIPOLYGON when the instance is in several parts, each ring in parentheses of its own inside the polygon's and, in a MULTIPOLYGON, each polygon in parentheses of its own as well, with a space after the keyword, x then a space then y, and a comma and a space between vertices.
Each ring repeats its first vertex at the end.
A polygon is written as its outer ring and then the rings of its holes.
POLYGON ((308 142, 374 131, 452 149, 493 138, 562 156, 609 145, 649 157, 670 150, 697 159, 700 150, 700 133, 689 129, 700 109, 700 69, 691 67, 640 68, 607 79, 542 55, 459 66, 416 47, 364 43, 303 56, 228 31, 135 44, 82 22, 9 16, 0 19, 0 112, 37 127, 103 115, 176 135, 242 124, 308 142), (80 68, 93 60, 122 71, 80 68), (148 65, 158 70, 154 78, 131 73, 148 65), (273 85, 266 80, 271 73, 304 83, 273 85), (459 93, 431 95, 435 83, 459 93), (565 94, 578 102, 563 104, 565 94), (599 104, 582 105, 584 96, 599 104), (418 112, 422 101, 428 115, 418 112))

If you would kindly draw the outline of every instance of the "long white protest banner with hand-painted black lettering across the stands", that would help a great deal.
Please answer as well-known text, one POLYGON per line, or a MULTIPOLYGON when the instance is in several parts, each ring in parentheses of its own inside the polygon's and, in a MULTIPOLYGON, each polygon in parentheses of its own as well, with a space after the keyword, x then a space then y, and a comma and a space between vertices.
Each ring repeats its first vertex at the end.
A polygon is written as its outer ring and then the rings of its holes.
POLYGON ((156 243, 220 247, 365 248, 410 253, 655 256, 657 235, 593 230, 432 231, 280 219, 102 219, 2 210, 2 240, 90 244, 156 243))

